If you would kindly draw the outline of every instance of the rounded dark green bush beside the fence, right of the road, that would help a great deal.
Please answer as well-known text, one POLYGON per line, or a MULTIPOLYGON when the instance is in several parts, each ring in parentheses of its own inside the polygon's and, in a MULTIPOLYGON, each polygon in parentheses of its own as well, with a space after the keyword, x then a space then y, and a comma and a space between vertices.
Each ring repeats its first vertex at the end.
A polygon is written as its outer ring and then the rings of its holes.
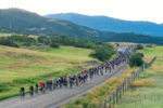
POLYGON ((141 53, 134 53, 129 58, 128 58, 128 64, 130 67, 134 66, 141 66, 143 64, 142 60, 142 55, 141 53))

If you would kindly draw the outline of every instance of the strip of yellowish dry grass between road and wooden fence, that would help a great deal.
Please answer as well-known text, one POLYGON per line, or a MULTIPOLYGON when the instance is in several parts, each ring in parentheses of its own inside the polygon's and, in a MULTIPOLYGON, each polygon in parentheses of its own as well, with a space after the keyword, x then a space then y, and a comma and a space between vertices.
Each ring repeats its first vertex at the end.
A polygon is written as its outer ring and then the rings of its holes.
MULTIPOLYGON (((136 71, 138 68, 129 68, 125 70, 120 77, 109 79, 104 84, 97 86, 95 90, 89 91, 85 97, 76 98, 75 100, 63 106, 63 108, 73 108, 74 106, 82 105, 84 108, 97 107, 101 102, 108 99, 115 89, 130 77, 131 71, 136 71), (83 98, 83 99, 80 99, 83 98)), ((74 107, 75 108, 75 107, 74 107)))

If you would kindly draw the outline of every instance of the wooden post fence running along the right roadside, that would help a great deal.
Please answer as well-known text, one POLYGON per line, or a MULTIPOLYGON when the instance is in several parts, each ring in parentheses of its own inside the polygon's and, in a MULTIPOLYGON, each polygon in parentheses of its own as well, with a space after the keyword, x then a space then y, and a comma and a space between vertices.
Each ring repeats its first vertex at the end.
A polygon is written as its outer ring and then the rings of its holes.
MULTIPOLYGON (((120 86, 116 87, 116 90, 101 104, 98 105, 97 108, 114 108, 115 104, 118 104, 118 100, 122 98, 122 96, 125 94, 125 92, 130 87, 131 82, 135 81, 135 79, 139 76, 143 69, 150 67, 156 57, 153 57, 150 63, 143 65, 137 70, 133 71, 129 78, 126 78, 123 83, 120 84, 120 86)), ((93 108, 93 107, 90 107, 93 108)))

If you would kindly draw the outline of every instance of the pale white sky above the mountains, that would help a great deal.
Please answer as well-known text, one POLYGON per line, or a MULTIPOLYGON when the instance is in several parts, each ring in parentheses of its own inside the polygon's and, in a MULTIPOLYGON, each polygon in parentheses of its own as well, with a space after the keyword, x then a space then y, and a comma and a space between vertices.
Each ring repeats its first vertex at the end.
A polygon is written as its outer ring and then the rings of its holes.
POLYGON ((0 9, 20 8, 40 15, 79 13, 163 23, 163 0, 0 0, 0 9))

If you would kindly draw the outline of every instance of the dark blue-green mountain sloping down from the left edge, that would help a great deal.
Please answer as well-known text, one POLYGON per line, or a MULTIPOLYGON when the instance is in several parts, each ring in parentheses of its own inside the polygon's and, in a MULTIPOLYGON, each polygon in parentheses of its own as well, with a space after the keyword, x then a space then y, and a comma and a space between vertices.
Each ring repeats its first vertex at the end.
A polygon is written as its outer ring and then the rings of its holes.
POLYGON ((66 21, 46 18, 21 9, 0 10, 0 31, 66 35, 79 38, 114 35, 114 32, 95 30, 66 21))

